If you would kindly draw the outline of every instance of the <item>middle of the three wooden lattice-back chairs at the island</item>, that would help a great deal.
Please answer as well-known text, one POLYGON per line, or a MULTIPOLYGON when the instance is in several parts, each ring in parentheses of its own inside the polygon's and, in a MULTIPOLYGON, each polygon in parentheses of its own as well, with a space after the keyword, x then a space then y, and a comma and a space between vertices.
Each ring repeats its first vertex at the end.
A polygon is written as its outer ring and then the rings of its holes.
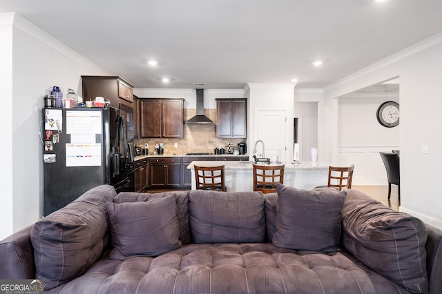
POLYGON ((285 165, 253 164, 253 190, 262 193, 276 192, 276 183, 284 184, 285 165))

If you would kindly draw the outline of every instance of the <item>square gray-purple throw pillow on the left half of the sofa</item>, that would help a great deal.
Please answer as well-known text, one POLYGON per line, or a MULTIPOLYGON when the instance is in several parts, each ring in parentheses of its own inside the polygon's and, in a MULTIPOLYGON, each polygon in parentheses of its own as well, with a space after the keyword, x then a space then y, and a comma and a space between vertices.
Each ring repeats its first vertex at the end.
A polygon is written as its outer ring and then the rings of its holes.
POLYGON ((107 208, 113 250, 122 255, 157 256, 180 248, 175 195, 148 202, 108 202, 107 208))

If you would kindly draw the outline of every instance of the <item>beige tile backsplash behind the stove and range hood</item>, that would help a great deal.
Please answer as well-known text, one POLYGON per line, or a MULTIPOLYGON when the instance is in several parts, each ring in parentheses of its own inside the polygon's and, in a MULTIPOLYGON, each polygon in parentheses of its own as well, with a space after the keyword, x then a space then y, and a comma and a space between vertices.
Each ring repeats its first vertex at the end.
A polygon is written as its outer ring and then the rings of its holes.
MULTIPOLYGON (((196 109, 184 108, 184 121, 193 117, 196 109)), ((164 144, 164 155, 184 155, 186 153, 213 153, 215 148, 226 148, 226 143, 233 143, 235 148, 238 143, 246 142, 247 139, 219 139, 216 137, 216 109, 204 109, 204 115, 213 120, 215 124, 184 124, 184 138, 160 139, 160 138, 137 138, 135 145, 144 149, 148 144, 149 154, 153 153, 155 144, 164 144), (174 148, 174 144, 177 148, 174 148)))

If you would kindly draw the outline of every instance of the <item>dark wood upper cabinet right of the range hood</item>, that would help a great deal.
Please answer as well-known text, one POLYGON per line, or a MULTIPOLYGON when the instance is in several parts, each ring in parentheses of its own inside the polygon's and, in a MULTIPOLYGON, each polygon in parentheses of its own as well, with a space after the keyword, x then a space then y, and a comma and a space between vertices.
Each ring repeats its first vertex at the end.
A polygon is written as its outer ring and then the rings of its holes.
POLYGON ((247 138, 247 99, 216 99, 218 138, 247 138))

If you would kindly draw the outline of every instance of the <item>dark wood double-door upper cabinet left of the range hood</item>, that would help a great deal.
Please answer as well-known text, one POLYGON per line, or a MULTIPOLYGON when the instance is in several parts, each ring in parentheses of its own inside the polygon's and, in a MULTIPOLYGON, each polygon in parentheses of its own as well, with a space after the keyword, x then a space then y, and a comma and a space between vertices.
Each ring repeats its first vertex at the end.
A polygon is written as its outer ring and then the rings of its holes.
POLYGON ((140 137, 184 137, 184 99, 140 98, 139 101, 140 137))

